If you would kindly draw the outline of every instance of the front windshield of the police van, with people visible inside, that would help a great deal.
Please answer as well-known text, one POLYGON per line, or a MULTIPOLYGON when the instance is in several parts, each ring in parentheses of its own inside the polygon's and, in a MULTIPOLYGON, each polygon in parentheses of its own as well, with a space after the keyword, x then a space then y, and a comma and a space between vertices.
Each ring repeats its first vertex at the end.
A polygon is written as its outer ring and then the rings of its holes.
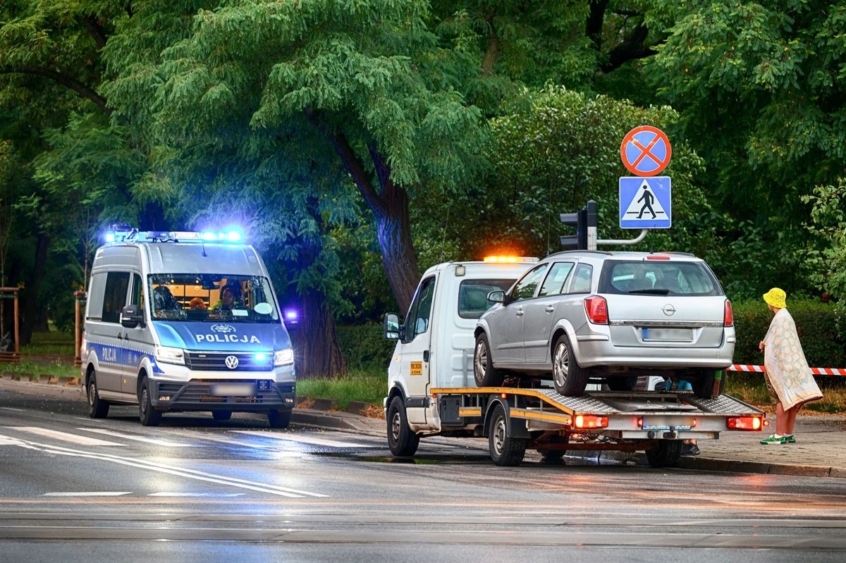
POLYGON ((153 320, 279 322, 270 281, 263 276, 151 274, 147 291, 153 320))

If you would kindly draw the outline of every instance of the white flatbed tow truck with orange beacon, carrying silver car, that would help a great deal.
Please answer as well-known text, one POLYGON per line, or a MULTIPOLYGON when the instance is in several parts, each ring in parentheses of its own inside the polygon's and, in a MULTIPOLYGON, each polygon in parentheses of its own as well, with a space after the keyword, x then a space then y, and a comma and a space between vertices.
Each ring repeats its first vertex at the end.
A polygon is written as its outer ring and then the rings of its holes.
MULTIPOLYGON (((672 467, 682 440, 717 440, 722 432, 761 431, 766 414, 725 394, 686 391, 590 391, 560 395, 551 381, 512 377, 476 387, 472 373, 476 319, 486 295, 508 288, 527 265, 500 262, 432 266, 420 281, 404 325, 387 314, 398 339, 384 399, 387 441, 394 456, 414 456, 420 438, 488 439, 499 466, 519 465, 526 450, 547 462, 567 451, 645 451, 651 467, 672 467)), ((480 310, 481 309, 481 310, 480 310)), ((597 385, 595 385, 597 386, 597 385)))

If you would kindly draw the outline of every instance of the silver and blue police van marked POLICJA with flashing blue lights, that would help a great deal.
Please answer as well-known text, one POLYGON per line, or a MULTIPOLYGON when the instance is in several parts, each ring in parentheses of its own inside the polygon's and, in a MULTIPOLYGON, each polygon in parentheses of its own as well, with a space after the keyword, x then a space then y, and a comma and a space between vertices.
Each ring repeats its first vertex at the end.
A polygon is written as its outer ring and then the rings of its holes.
POLYGON ((91 269, 80 358, 91 418, 266 413, 288 426, 294 352, 270 276, 237 233, 107 233, 91 269))

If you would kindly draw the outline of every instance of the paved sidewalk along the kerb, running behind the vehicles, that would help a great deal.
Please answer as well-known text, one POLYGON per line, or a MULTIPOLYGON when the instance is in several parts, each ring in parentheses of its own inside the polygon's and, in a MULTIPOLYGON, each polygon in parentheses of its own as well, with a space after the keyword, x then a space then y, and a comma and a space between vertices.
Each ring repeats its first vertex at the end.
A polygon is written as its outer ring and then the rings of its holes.
MULTIPOLYGON (((57 396, 85 401, 79 385, 0 379, 0 391, 57 396)), ((317 403, 317 402, 316 402, 317 403)), ((678 467, 733 473, 771 473, 802 477, 846 478, 846 416, 802 415, 796 418, 796 443, 761 445, 772 434, 775 417, 764 432, 723 432, 719 440, 700 440, 699 456, 683 456, 678 467)), ((292 423, 321 429, 384 436, 385 421, 354 413, 295 408, 292 423)), ((613 454, 615 452, 608 452, 613 454)), ((607 454, 603 454, 607 455, 607 454)), ((645 464, 639 453, 638 461, 645 464)))

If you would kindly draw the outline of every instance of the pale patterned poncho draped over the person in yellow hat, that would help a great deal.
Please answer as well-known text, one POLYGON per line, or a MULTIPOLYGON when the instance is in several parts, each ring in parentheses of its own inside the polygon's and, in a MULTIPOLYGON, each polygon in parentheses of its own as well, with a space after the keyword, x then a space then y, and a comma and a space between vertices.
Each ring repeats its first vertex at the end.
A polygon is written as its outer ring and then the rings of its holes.
POLYGON ((784 410, 822 398, 788 309, 778 309, 772 317, 764 344, 766 386, 784 410))

